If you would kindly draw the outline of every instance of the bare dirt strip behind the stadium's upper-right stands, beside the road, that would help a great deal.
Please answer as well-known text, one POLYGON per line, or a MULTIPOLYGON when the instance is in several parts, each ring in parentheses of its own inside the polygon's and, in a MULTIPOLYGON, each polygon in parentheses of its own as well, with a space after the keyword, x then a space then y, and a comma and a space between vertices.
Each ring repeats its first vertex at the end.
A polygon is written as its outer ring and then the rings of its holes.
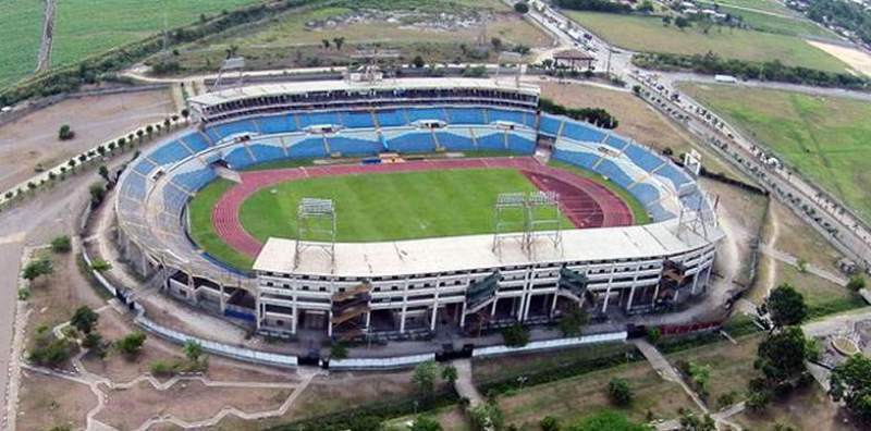
POLYGON ((603 108, 618 121, 616 132, 636 141, 662 151, 671 148, 675 155, 690 148, 700 151, 706 168, 732 177, 743 178, 734 168, 716 158, 671 120, 645 103, 629 91, 576 83, 540 83, 541 96, 572 108, 603 108))

